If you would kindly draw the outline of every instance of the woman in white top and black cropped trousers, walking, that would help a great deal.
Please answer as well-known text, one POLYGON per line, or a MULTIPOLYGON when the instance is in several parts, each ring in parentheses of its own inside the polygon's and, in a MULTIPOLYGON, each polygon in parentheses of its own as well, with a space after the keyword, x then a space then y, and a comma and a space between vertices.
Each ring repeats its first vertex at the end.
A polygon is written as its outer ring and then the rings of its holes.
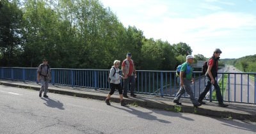
POLYGON ((123 100, 123 88, 121 86, 121 78, 125 78, 122 75, 119 75, 119 64, 120 61, 115 60, 114 61, 114 66, 111 67, 110 73, 109 73, 109 78, 110 78, 110 92, 105 100, 107 105, 110 105, 109 99, 110 96, 115 93, 115 89, 118 89, 119 96, 120 96, 120 103, 122 106, 125 105, 124 100, 123 100))

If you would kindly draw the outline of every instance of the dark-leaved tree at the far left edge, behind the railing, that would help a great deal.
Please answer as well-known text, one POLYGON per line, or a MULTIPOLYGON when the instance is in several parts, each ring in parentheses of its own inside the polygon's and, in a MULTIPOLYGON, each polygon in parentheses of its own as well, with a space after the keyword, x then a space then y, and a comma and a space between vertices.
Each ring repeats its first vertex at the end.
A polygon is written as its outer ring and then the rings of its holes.
POLYGON ((1 1, 0 8, 0 64, 1 66, 19 66, 22 52, 21 18, 22 11, 8 0, 1 1))

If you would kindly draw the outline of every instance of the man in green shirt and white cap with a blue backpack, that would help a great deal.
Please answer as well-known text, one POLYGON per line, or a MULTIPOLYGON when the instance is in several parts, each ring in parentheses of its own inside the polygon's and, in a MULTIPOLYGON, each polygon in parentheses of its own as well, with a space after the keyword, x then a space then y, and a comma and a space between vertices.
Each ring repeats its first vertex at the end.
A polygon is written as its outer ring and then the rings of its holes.
POLYGON ((195 99, 193 90, 191 88, 191 83, 194 82, 193 78, 193 68, 191 64, 193 64, 194 57, 191 55, 186 56, 186 62, 181 65, 180 69, 180 89, 178 93, 176 94, 173 102, 176 103, 177 105, 181 105, 179 102, 180 97, 182 94, 185 93, 185 91, 188 93, 189 98, 191 102, 193 103, 194 107, 199 107, 202 105, 201 103, 198 103, 198 101, 195 99))

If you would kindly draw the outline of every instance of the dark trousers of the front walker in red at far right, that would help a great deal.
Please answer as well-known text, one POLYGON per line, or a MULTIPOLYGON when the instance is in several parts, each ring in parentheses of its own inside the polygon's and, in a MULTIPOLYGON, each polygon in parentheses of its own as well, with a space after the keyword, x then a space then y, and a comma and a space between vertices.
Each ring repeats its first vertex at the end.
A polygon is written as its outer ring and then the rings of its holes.
MULTIPOLYGON (((198 101, 202 101, 205 98, 205 95, 207 94, 207 92, 211 89, 211 86, 212 86, 211 78, 207 76, 205 78, 205 82, 206 82, 206 85, 205 85, 204 91, 202 91, 202 93, 200 94, 198 101)), ((218 82, 216 82, 216 78, 214 78, 213 86, 216 91, 217 100, 219 101, 219 104, 222 104, 223 98, 221 95, 220 86, 218 85, 218 82)))

